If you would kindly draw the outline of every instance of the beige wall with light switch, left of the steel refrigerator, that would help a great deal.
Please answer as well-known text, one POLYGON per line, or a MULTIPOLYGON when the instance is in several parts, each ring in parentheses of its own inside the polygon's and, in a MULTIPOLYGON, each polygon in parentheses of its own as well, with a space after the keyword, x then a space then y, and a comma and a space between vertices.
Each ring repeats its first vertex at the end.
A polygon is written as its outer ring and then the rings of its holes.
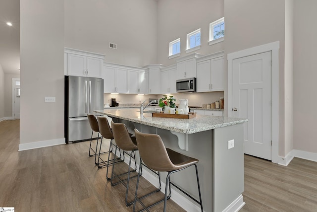
POLYGON ((20 144, 64 141, 64 1, 20 0, 20 9, 20 144))

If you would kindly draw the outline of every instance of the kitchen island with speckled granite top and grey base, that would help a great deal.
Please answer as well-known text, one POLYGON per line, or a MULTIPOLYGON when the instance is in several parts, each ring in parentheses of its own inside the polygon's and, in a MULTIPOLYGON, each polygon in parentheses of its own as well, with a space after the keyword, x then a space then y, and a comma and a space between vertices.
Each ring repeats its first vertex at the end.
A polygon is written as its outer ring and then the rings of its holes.
MULTIPOLYGON (((199 159, 204 211, 237 211, 244 206, 243 129, 247 119, 203 115, 192 119, 158 118, 146 112, 141 116, 138 111, 138 108, 114 108, 94 112, 107 115, 114 122, 126 124, 132 134, 134 129, 158 134, 166 147, 199 159), (231 148, 228 141, 233 144, 231 148)), ((142 176, 152 184, 157 184, 156 177, 146 169, 142 176)), ((164 176, 165 173, 162 173, 161 179, 164 176)), ((194 168, 175 173, 171 178, 178 186, 198 198, 194 168)), ((164 187, 163 182, 162 185, 164 187)), ((171 199, 174 202, 186 211, 200 211, 196 203, 176 191, 172 190, 171 199)))

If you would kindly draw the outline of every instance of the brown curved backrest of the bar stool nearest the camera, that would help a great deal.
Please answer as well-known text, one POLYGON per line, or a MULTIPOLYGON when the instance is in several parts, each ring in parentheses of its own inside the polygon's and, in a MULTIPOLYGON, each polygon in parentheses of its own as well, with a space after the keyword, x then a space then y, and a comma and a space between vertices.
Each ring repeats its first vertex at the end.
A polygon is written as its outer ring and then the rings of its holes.
POLYGON ((159 135, 141 133, 137 129, 134 132, 141 158, 149 168, 156 171, 169 171, 174 168, 159 135))

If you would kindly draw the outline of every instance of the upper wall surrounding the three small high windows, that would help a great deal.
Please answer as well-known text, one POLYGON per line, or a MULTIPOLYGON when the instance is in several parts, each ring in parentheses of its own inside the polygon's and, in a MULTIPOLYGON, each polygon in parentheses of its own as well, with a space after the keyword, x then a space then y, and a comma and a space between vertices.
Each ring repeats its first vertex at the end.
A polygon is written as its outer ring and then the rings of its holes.
MULTIPOLYGON (((168 59, 169 42, 180 38, 180 57, 186 56, 186 35, 201 28, 202 55, 222 51, 223 42, 209 46, 209 24, 224 15, 224 0, 158 0, 158 63, 175 64, 168 59)), ((192 52, 193 53, 193 52, 192 52)), ((191 54, 191 53, 189 53, 191 54)))

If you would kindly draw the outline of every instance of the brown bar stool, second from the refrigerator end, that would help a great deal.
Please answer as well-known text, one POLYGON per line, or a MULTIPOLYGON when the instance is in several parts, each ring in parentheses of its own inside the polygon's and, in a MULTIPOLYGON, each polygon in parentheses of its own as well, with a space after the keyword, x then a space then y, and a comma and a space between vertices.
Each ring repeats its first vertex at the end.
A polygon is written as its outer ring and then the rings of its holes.
MULTIPOLYGON (((114 145, 116 147, 116 145, 112 143, 113 134, 112 134, 111 128, 109 126, 109 122, 108 122, 106 117, 98 116, 97 120, 98 120, 99 131, 100 131, 100 134, 102 135, 102 138, 101 138, 101 141, 100 141, 100 148, 99 148, 99 153, 98 153, 98 162, 97 162, 97 164, 98 164, 98 168, 107 167, 106 178, 107 178, 107 180, 110 180, 110 178, 107 177, 108 176, 109 161, 122 162, 123 160, 121 159, 121 152, 120 152, 120 157, 116 157, 116 155, 114 154, 114 158, 110 159, 110 152, 112 152, 112 145, 114 145), (103 160, 100 157, 100 155, 102 154, 101 153, 101 148, 102 148, 102 144, 103 144, 103 138, 110 139, 109 151, 107 151, 108 159, 106 161, 103 160), (103 163, 103 165, 100 165, 101 163, 103 163)), ((112 164, 110 164, 110 165, 112 165, 112 164)))

